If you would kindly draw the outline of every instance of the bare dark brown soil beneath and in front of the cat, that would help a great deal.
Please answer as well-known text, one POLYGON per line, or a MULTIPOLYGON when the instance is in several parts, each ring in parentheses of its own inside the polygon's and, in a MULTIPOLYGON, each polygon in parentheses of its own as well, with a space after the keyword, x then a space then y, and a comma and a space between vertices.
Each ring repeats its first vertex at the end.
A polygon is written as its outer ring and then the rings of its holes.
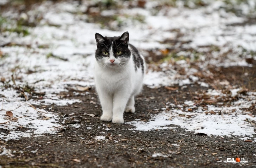
MULTIPOLYGON (((248 78, 255 81, 256 66, 246 68, 248 78)), ((249 86, 249 80, 243 80, 241 74, 244 69, 231 67, 222 68, 219 74, 225 76, 228 82, 241 86, 249 86), (231 72, 232 75, 231 75, 231 72)), ((217 75, 218 76, 218 75, 217 75)), ((221 78, 221 77, 220 77, 221 78)), ((251 81, 251 80, 250 80, 251 81)), ((250 84, 251 89, 255 90, 250 84)), ((141 95, 136 98, 136 112, 126 113, 125 122, 141 119, 148 121, 150 114, 157 114, 165 107, 165 103, 178 103, 192 100, 191 95, 203 92, 209 88, 202 88, 198 84, 189 85, 187 88, 179 87, 176 91, 164 87, 150 89, 144 86, 141 95), (191 93, 190 93, 191 92, 191 93), (173 97, 173 98, 172 98, 173 97)), ((87 96, 75 96, 72 91, 61 93, 65 98, 80 99, 82 103, 68 106, 47 106, 60 116, 63 125, 73 123, 81 124, 80 128, 66 127, 59 129, 58 134, 45 134, 44 136, 23 137, 20 140, 0 142, 6 149, 12 151, 13 157, 0 156, 2 167, 240 167, 256 166, 255 142, 244 142, 239 137, 206 136, 195 134, 179 128, 151 131, 134 131, 130 124, 113 124, 101 122, 100 103, 94 89, 88 90, 87 96), (73 115, 70 115, 75 113, 73 115), (94 117, 84 115, 94 114, 94 117), (64 119, 65 118, 65 119, 64 119), (103 126, 105 124, 105 126, 103 126), (91 129, 88 129, 90 127, 91 129), (99 128, 98 128, 99 127, 99 128), (102 128, 105 128, 103 130, 102 128), (106 128, 109 128, 108 130, 106 128), (104 131, 105 133, 103 133, 104 131), (105 135, 106 140, 96 140, 95 136, 105 135), (177 144, 177 146, 173 145, 177 144), (13 151, 16 153, 13 153, 13 151), (21 153, 20 151, 23 151, 21 153), (153 157, 161 153, 164 156, 153 157), (226 163, 227 157, 249 158, 248 163, 226 163)), ((39 107, 39 106, 38 106, 39 107)), ((21 129, 21 128, 17 128, 21 129)), ((58 129, 58 128, 57 128, 58 129)), ((1 130, 3 131, 3 130, 1 130)))

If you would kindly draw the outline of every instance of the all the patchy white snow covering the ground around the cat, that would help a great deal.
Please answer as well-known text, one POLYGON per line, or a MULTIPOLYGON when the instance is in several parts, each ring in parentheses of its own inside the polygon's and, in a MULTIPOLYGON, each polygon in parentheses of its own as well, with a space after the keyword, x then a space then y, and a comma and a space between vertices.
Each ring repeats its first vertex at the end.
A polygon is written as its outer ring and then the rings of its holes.
MULTIPOLYGON (((223 1, 210 1, 208 6, 198 8, 193 8, 193 4, 190 4, 191 8, 184 7, 183 1, 177 1, 175 7, 162 6, 159 11, 156 11, 156 7, 163 5, 161 1, 147 1, 144 8, 129 10, 127 7, 131 4, 125 2, 121 8, 103 11, 91 8, 94 3, 97 1, 83 1, 82 5, 73 1, 56 4, 43 1, 26 13, 19 14, 15 8, 11 8, 1 14, 7 20, 1 26, 6 29, 17 27, 17 20, 37 23, 36 27, 25 27, 26 35, 15 31, 0 33, 0 45, 9 43, 0 47, 0 123, 8 121, 4 116, 6 111, 12 111, 17 118, 26 116, 17 122, 1 124, 0 129, 10 131, 8 135, 0 133, 1 139, 7 141, 22 136, 54 134, 55 128, 62 127, 58 123, 59 116, 51 109, 35 109, 33 105, 63 106, 81 102, 78 99, 62 99, 60 93, 69 88, 94 86, 95 32, 118 36, 129 31, 130 43, 138 47, 148 60, 151 59, 148 51, 160 55, 175 49, 178 60, 170 57, 168 61, 159 63, 158 68, 155 64, 148 65, 144 84, 150 88, 185 87, 194 83, 208 88, 210 83, 204 83, 195 73, 202 71, 206 76, 211 75, 209 65, 250 67, 252 64, 247 63, 245 58, 256 60, 252 54, 256 52, 256 24, 239 25, 247 21, 246 15, 255 15, 254 0, 236 6, 241 9, 241 16, 227 12, 225 7, 228 5, 223 1), (117 15, 118 19, 111 21, 108 26, 88 22, 90 16, 84 14, 87 9, 91 12, 95 10, 101 16, 117 15), (138 16, 143 21, 134 19, 138 16), (233 26, 235 24, 238 25, 233 26), (173 40, 177 42, 168 42, 173 40), (167 42, 163 44, 163 41, 167 42), (194 61, 198 69, 190 66, 194 61), (175 66, 183 69, 184 75, 174 70, 175 66), (33 95, 30 91, 21 93, 19 86, 23 88, 25 85, 44 95, 33 95), (29 99, 26 101, 24 97, 29 99), (20 126, 26 130, 16 131, 15 128, 20 126)), ((232 86, 230 90, 236 96, 240 88, 232 86)), ((206 94, 212 98, 230 97, 219 90, 208 90, 206 94)), ((256 103, 255 92, 248 92, 230 106, 208 105, 203 108, 195 106, 196 103, 187 101, 177 105, 168 102, 168 108, 156 109, 162 112, 152 116, 152 121, 134 121, 130 124, 136 126, 135 130, 145 131, 169 129, 165 126, 175 124, 207 135, 251 137, 255 134, 252 123, 256 122, 256 117, 248 112, 256 103), (193 112, 189 109, 193 109, 193 112)))

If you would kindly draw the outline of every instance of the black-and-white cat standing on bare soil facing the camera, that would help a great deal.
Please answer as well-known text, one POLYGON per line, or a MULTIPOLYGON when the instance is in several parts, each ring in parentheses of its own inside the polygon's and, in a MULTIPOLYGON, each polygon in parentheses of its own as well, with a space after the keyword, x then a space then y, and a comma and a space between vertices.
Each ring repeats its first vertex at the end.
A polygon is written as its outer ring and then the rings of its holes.
POLYGON ((123 124, 125 112, 135 112, 135 99, 142 90, 145 60, 129 44, 129 33, 120 37, 95 34, 95 85, 102 106, 101 121, 123 124))

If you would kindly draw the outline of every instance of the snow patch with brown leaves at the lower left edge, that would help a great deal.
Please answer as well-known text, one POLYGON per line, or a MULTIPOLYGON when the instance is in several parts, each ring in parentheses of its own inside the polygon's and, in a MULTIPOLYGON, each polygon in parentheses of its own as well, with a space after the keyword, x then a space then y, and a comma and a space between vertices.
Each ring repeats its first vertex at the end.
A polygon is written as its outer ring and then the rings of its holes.
MULTIPOLYGON (((0 133, 0 138, 7 140, 17 140, 20 137, 29 137, 35 134, 43 134, 49 133, 54 134, 55 127, 59 127, 58 124, 58 115, 53 114, 52 112, 48 112, 43 109, 34 109, 30 106, 29 102, 21 101, 22 99, 18 97, 18 93, 12 89, 6 89, 4 91, 0 91, 0 94, 6 95, 6 98, 2 99, 2 109, 5 111, 13 111, 13 115, 15 117, 23 117, 18 118, 18 123, 11 122, 12 125, 0 125, 2 129, 10 130, 10 133, 7 135, 5 133, 0 133), (18 98, 17 98, 18 97, 18 98), (45 119, 49 117, 49 119, 45 119), (29 128, 29 130, 21 132, 16 131, 16 126, 13 125, 22 125, 22 127, 29 128)), ((6 114, 5 111, 1 111, 0 115, 3 116, 6 114)), ((0 118, 0 123, 7 122, 8 119, 4 117, 0 118)))

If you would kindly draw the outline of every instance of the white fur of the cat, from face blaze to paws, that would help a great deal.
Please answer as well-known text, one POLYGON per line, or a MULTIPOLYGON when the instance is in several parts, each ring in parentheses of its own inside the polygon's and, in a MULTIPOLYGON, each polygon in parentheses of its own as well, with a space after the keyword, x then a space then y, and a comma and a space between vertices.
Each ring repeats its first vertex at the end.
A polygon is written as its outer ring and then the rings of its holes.
MULTIPOLYGON (((129 47, 131 53, 132 49, 129 47)), ((142 57, 142 56, 141 56, 142 57)), ((95 59, 95 85, 99 95, 103 114, 101 121, 111 121, 116 124, 123 124, 123 113, 135 112, 134 97, 141 91, 144 74, 141 67, 135 71, 132 54, 127 64, 122 67, 111 66, 109 60, 114 59, 115 64, 122 62, 122 58, 115 58, 112 47, 109 57, 101 61, 95 59)), ((124 59, 124 58, 123 58, 124 59)), ((144 58, 142 57, 143 62, 144 58)), ((145 73, 145 62, 144 62, 145 73)))

